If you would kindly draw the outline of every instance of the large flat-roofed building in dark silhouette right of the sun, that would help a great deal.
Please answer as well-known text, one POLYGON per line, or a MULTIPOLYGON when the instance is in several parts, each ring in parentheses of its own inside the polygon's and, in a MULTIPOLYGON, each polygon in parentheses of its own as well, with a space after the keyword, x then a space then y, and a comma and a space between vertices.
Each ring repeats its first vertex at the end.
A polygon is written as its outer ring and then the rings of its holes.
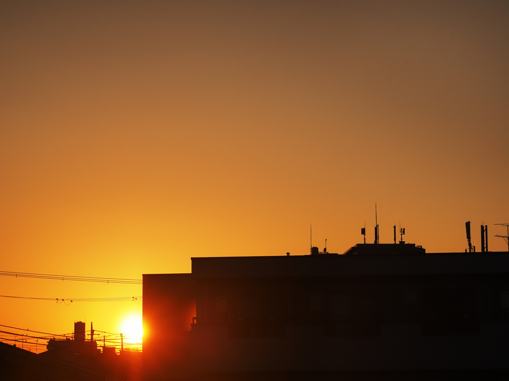
POLYGON ((146 380, 507 375, 507 252, 357 244, 191 261, 143 276, 146 380))

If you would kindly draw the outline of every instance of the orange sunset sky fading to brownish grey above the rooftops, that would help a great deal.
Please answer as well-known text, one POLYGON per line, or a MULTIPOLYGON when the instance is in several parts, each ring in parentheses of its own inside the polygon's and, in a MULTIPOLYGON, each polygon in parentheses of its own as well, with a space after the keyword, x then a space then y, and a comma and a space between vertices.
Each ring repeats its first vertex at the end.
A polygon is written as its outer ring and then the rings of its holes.
MULTIPOLYGON (((507 1, 3 1, 0 270, 138 278, 344 252, 392 226, 507 250, 507 1)), ((142 294, 0 277, 0 295, 142 294)), ((119 332, 142 306, 0 298, 0 324, 119 332)))

